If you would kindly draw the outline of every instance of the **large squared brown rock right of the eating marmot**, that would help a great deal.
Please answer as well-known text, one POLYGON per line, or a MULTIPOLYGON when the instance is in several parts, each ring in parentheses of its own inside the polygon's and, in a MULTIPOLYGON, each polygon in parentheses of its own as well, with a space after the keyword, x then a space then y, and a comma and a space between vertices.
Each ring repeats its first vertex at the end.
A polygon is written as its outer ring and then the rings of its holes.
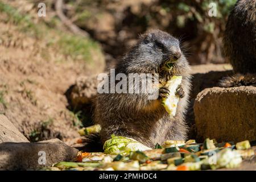
POLYGON ((256 139, 256 87, 208 88, 194 104, 197 138, 256 139))

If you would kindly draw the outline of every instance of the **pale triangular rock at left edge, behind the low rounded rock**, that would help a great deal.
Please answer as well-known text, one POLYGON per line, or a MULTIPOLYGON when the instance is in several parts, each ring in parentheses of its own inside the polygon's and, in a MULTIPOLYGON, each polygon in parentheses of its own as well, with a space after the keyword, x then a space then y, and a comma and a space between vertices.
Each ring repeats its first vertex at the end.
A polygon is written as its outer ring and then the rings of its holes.
POLYGON ((22 133, 9 121, 9 119, 0 114, 0 143, 2 142, 29 142, 22 133))

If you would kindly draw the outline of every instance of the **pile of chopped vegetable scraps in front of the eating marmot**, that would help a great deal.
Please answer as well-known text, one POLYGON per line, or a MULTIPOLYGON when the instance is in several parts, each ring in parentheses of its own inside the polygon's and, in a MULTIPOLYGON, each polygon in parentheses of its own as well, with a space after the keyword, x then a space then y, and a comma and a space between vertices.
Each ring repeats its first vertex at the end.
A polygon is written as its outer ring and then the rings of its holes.
POLYGON ((164 170, 195 171, 239 167, 243 159, 255 157, 248 140, 217 143, 215 139, 167 140, 148 148, 134 139, 112 138, 104 144, 104 152, 79 152, 77 162, 59 162, 43 170, 164 170))

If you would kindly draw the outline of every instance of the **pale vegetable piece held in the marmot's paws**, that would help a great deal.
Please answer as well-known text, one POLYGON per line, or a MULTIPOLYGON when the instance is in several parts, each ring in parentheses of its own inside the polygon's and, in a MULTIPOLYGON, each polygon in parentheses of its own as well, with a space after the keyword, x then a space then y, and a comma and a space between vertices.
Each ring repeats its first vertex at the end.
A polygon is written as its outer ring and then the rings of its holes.
POLYGON ((167 113, 172 117, 176 115, 177 104, 180 100, 179 96, 176 96, 175 92, 177 87, 181 84, 182 76, 172 76, 171 80, 169 80, 166 84, 168 86, 168 90, 170 94, 167 98, 162 99, 162 104, 166 109, 167 113))

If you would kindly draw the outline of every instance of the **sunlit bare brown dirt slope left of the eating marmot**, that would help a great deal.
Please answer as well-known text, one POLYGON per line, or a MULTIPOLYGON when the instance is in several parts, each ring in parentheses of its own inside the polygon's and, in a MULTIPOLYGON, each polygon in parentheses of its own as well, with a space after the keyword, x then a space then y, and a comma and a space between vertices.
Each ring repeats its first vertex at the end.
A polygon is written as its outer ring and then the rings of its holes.
MULTIPOLYGON (((0 113, 32 142, 79 137, 79 120, 67 109, 65 92, 79 75, 102 72, 104 67, 95 69, 65 55, 49 46, 51 40, 21 31, 20 24, 8 18, 0 13, 0 113)), ((97 64, 103 60, 101 53, 91 59, 97 64)))

